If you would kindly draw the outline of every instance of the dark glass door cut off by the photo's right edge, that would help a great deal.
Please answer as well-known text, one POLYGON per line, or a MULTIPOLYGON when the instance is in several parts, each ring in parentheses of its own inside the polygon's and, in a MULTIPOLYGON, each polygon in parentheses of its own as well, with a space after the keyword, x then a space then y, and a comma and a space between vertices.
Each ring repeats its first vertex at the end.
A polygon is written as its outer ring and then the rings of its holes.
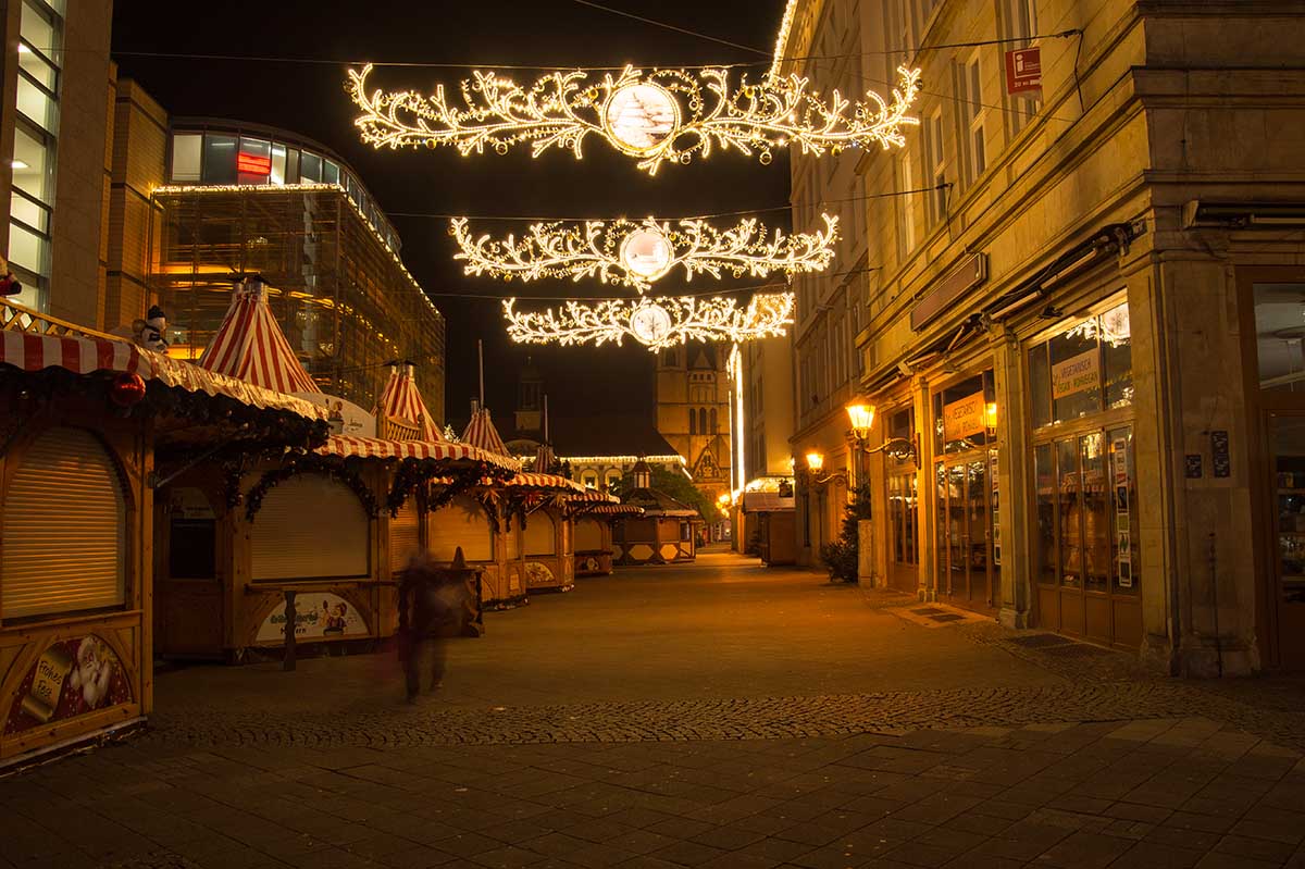
POLYGON ((1278 663, 1305 668, 1305 415, 1268 415, 1274 557, 1268 618, 1278 663))

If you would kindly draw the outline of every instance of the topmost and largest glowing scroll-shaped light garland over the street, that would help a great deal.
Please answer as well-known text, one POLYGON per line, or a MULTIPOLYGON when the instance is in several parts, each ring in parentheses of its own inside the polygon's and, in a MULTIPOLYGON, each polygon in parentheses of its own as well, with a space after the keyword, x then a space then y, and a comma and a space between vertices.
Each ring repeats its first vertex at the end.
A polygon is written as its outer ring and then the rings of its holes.
POLYGON ((757 85, 743 76, 735 86, 728 69, 645 73, 626 67, 600 80, 596 70, 553 72, 522 86, 476 70, 450 98, 444 85, 432 95, 368 90, 371 72, 372 64, 350 69, 348 91, 361 110, 354 125, 376 147, 450 145, 466 157, 485 147, 506 154, 529 142, 534 157, 557 147, 579 159, 585 140, 598 136, 637 158, 650 175, 718 146, 757 154, 762 163, 770 163, 773 150, 793 145, 816 155, 874 144, 900 147, 902 128, 920 123, 907 114, 920 70, 906 67, 898 69, 900 82, 889 99, 868 90, 856 102, 837 90, 825 100, 796 73, 767 72, 757 85))

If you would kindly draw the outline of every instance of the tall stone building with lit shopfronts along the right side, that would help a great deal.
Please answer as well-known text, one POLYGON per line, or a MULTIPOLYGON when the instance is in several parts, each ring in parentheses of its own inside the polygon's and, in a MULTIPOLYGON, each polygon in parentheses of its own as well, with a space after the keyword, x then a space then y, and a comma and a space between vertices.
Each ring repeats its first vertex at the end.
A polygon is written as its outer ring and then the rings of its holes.
MULTIPOLYGON (((1305 664, 1305 4, 792 13, 784 56, 855 55, 788 63, 818 89, 923 69, 906 147, 844 154, 827 188, 878 197, 844 391, 877 408, 867 446, 917 444, 865 461, 873 582, 1174 673, 1305 664), (1040 89, 1010 93, 1030 48, 1040 89)), ((795 454, 837 449, 843 397, 826 431, 799 389, 795 454)))

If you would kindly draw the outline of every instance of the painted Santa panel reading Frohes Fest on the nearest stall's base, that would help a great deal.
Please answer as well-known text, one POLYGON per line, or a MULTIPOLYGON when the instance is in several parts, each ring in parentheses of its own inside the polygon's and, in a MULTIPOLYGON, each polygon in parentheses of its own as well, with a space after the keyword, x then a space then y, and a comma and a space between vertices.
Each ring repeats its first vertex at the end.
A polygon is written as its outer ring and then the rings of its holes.
POLYGON ((52 643, 18 682, 4 732, 18 733, 132 702, 117 655, 94 634, 52 643))

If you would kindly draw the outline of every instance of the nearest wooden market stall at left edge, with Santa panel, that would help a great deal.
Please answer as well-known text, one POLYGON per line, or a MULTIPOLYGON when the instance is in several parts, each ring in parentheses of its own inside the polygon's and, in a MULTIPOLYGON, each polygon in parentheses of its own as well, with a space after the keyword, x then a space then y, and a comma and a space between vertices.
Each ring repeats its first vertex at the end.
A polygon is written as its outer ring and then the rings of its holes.
POLYGON ((150 712, 155 489, 194 455, 309 448, 328 427, 308 402, 34 311, 0 303, 0 763, 12 763, 150 712))

